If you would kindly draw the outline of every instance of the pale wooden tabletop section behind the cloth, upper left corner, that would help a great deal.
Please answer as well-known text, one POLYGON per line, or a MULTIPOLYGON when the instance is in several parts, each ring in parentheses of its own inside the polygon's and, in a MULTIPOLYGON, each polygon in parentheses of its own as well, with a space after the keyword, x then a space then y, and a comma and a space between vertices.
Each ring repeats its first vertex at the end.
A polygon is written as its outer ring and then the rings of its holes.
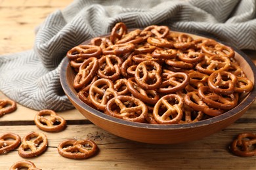
POLYGON ((0 1, 0 54, 33 48, 35 29, 45 18, 72 3, 65 1, 0 1))

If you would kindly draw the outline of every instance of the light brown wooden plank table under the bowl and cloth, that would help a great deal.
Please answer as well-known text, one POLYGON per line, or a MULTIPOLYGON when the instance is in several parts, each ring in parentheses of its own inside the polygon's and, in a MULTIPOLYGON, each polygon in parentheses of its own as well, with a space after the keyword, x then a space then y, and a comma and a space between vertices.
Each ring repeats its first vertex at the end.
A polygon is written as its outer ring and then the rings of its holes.
MULTIPOLYGON (((34 29, 56 9, 64 9, 72 0, 0 0, 0 54, 21 52, 33 47, 34 29)), ((253 51, 245 51, 256 61, 253 51)), ((256 63, 256 62, 255 62, 256 63)), ((0 98, 7 98, 0 92, 0 98)), ((0 134, 12 132, 24 137, 40 131, 34 124, 36 110, 18 105, 18 109, 0 118, 0 134)), ((234 124, 204 139, 181 144, 145 144, 122 139, 95 126, 77 110, 58 112, 68 122, 59 133, 44 132, 49 147, 41 156, 30 158, 41 169, 256 169, 256 156, 240 158, 228 146, 239 133, 256 133, 256 103, 234 124), (93 139, 100 152, 88 160, 70 160, 58 154, 64 139, 93 139)), ((0 155, 0 169, 9 169, 24 160, 17 150, 0 155)))

